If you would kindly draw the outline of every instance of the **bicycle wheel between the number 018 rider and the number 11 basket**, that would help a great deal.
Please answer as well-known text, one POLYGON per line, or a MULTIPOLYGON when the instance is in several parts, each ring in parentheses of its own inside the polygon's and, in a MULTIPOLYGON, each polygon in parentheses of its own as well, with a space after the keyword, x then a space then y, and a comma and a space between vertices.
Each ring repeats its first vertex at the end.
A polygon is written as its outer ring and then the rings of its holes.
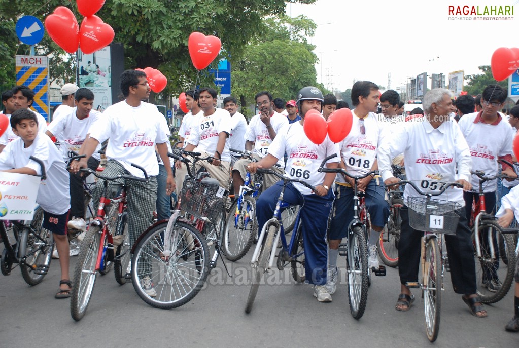
POLYGON ((380 234, 378 240, 378 255, 382 262, 389 267, 398 266, 398 242, 400 240, 400 226, 402 218, 400 208, 404 205, 402 198, 392 198, 390 203, 390 215, 388 223, 380 234))

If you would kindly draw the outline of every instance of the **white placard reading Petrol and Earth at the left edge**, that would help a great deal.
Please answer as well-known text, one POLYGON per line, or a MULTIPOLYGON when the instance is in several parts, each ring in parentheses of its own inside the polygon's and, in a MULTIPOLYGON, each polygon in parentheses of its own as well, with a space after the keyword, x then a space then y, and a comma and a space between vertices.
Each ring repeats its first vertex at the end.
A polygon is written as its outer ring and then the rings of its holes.
POLYGON ((32 220, 39 177, 0 172, 0 220, 32 220))

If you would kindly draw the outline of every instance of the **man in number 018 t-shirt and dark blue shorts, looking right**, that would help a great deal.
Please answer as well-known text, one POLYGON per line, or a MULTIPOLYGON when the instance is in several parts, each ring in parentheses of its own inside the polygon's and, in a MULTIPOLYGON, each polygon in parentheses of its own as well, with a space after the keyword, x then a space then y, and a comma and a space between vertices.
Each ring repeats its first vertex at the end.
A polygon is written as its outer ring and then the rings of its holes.
MULTIPOLYGON (((341 165, 350 175, 361 175, 378 169, 377 149, 384 141, 384 125, 375 113, 380 103, 378 86, 370 81, 357 81, 351 89, 351 101, 355 109, 353 124, 348 136, 339 143, 341 165)), ((389 204, 385 189, 378 176, 368 176, 358 181, 358 189, 365 192, 366 207, 370 212, 372 229, 368 232, 368 267, 379 268, 377 241, 389 217, 389 204)), ((328 272, 326 287, 333 294, 337 283, 337 255, 340 241, 348 233, 353 219, 353 180, 337 175, 332 218, 328 229, 328 272)))

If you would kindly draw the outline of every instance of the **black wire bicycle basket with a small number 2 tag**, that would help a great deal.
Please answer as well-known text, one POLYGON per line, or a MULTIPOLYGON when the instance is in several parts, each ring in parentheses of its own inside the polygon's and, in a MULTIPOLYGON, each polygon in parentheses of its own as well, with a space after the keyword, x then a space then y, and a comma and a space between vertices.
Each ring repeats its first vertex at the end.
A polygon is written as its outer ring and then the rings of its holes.
POLYGON ((184 181, 180 209, 197 219, 215 223, 224 209, 226 196, 218 197, 220 189, 214 184, 199 181, 184 181))

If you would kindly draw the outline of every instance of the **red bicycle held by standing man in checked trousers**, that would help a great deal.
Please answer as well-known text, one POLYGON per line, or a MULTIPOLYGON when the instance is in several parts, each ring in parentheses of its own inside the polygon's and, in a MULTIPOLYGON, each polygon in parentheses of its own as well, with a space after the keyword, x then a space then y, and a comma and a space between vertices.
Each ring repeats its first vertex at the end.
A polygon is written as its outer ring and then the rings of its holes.
MULTIPOLYGON (((82 157, 85 157, 85 155, 71 157, 69 167, 72 161, 82 157)), ((83 318, 85 315, 85 312, 90 303, 97 273, 105 271, 108 262, 112 262, 115 259, 113 238, 113 230, 115 230, 115 228, 113 228, 113 226, 114 221, 117 221, 118 215, 116 214, 119 213, 121 207, 124 208, 124 202, 122 201, 122 198, 124 198, 125 195, 122 194, 122 192, 125 191, 125 187, 122 186, 116 197, 111 198, 109 197, 109 183, 116 181, 117 179, 127 179, 141 182, 147 182, 148 180, 148 176, 144 168, 133 163, 131 165, 142 170, 145 178, 143 179, 131 175, 118 175, 113 178, 108 178, 99 175, 97 172, 89 168, 80 169, 81 172, 89 173, 99 179, 102 179, 104 187, 99 200, 97 214, 90 222, 83 241, 81 241, 78 260, 74 268, 74 286, 72 287, 70 309, 71 316, 75 321, 81 320, 81 318, 83 318), (119 209, 114 209, 115 204, 118 205, 119 209)), ((128 236, 128 234, 126 235, 128 236)), ((124 245, 124 243, 122 245, 124 245)), ((118 257, 121 258, 126 254, 127 253, 119 254, 118 257)), ((116 274, 116 279, 117 278, 118 277, 116 274)))

